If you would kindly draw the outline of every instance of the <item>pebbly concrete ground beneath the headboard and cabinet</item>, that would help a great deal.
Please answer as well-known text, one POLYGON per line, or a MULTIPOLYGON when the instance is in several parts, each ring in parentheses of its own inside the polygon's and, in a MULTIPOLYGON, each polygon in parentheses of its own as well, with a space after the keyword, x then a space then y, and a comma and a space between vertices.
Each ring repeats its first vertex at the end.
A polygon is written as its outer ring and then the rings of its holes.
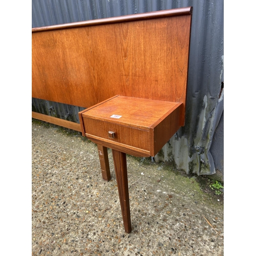
POLYGON ((127 155, 132 232, 125 233, 112 153, 32 119, 32 255, 224 255, 223 197, 197 177, 127 155))

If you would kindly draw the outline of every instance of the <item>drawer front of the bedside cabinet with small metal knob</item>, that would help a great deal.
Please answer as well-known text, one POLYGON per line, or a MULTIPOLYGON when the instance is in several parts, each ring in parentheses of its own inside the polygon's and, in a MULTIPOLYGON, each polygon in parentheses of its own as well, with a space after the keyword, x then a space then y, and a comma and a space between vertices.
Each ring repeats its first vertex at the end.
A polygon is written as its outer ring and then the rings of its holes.
POLYGON ((150 151, 150 132, 134 127, 123 126, 111 122, 105 122, 88 117, 83 117, 86 136, 90 135, 102 138, 104 141, 117 142, 128 146, 150 151), (109 132, 113 132, 114 135, 109 132), (114 138, 111 138, 114 137, 114 138))

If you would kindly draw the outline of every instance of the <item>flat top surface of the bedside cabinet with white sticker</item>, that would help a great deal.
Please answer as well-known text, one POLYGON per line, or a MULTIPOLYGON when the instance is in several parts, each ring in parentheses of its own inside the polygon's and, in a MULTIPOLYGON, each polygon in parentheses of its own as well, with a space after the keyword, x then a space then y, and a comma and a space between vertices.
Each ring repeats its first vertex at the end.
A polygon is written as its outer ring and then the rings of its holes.
POLYGON ((154 127, 181 103, 117 96, 82 113, 107 122, 129 125, 139 129, 154 127))

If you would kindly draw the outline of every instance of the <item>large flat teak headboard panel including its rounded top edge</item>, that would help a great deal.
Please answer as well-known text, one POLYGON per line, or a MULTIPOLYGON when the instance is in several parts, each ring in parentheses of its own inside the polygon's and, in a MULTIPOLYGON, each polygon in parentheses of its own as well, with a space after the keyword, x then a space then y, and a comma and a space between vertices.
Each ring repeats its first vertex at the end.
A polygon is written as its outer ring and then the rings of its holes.
POLYGON ((32 29, 32 97, 88 108, 114 95, 183 103, 191 7, 32 29))

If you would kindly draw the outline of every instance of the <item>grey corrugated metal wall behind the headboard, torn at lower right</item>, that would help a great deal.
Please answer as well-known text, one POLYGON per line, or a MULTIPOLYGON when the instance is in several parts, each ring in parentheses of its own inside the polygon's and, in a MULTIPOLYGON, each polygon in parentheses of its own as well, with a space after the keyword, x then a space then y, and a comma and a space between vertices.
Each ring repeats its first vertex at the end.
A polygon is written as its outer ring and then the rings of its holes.
MULTIPOLYGON (((32 0, 32 28, 193 6, 186 124, 155 156, 187 174, 224 173, 223 0, 32 0)), ((77 106, 32 100, 32 110, 78 121, 77 106)))

